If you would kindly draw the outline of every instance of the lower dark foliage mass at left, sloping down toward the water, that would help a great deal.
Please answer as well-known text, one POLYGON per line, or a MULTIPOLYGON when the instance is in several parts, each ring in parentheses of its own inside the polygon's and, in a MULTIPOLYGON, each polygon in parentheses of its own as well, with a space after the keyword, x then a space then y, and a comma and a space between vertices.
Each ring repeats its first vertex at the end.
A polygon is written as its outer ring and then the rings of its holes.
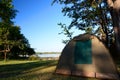
POLYGON ((19 55, 35 54, 18 26, 0 27, 0 46, 1 52, 9 50, 8 57, 17 58, 19 55))

